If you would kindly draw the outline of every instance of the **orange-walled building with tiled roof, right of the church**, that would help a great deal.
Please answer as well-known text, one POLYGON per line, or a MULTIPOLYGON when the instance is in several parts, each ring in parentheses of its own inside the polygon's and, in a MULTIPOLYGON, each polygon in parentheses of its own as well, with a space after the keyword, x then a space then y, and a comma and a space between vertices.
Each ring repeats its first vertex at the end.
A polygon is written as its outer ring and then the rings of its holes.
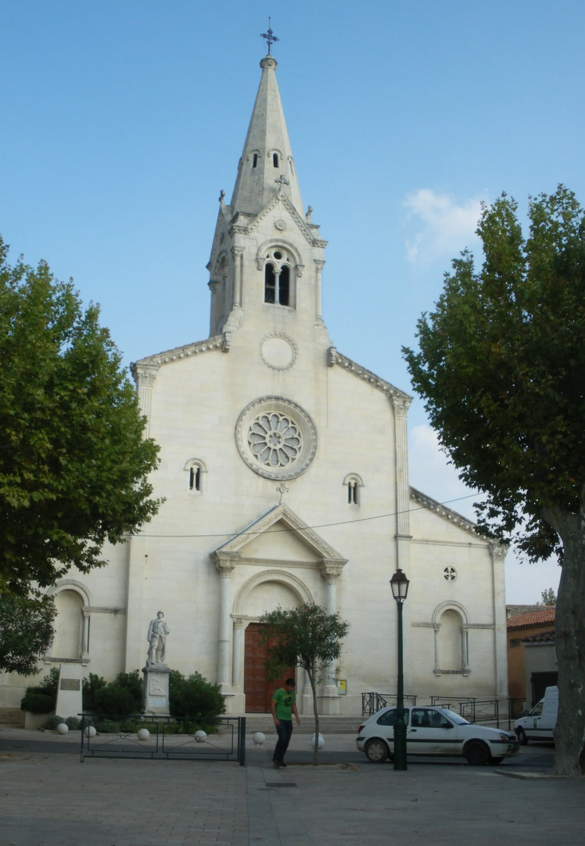
MULTIPOLYGON (((508 693, 513 699, 527 700, 528 704, 530 704, 533 697, 533 684, 531 681, 531 676, 527 675, 528 664, 531 667, 530 673, 539 672, 538 669, 533 670, 532 668, 532 656, 531 660, 527 663, 528 658, 526 652, 526 640, 529 640, 533 636, 539 637, 544 634, 553 634, 554 639, 554 633, 554 606, 539 606, 538 610, 528 611, 525 613, 517 614, 514 617, 508 618, 508 693)), ((546 642, 549 643, 549 640, 547 640, 546 642)), ((554 651, 554 640, 552 641, 552 643, 552 648, 554 651)), ((539 653, 535 653, 534 657, 536 657, 536 655, 538 654, 539 653)), ((553 668, 555 669, 555 667, 553 668)), ((545 670, 543 667, 542 672, 549 671, 545 670)), ((535 684, 539 689, 538 679, 535 681, 535 684)), ((556 680, 549 681, 549 684, 556 684, 556 680)), ((536 701, 538 701, 538 699, 536 701)))

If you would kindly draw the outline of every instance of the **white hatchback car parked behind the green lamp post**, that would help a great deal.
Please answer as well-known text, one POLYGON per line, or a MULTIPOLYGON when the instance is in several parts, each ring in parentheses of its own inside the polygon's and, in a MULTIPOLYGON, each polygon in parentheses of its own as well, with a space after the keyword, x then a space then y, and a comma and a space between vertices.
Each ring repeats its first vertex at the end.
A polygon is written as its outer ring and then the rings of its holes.
MULTIPOLYGON (((358 751, 372 764, 392 758, 396 706, 383 708, 358 729, 358 751)), ((407 755, 457 755, 469 764, 499 764, 517 755, 516 734, 470 723, 447 708, 413 706, 404 709, 407 755)))

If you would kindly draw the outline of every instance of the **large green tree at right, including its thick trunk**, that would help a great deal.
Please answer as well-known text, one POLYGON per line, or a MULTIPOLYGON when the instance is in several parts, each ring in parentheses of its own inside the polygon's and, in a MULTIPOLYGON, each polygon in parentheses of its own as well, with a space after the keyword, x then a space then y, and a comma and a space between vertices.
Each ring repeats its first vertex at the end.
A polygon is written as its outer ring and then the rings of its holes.
POLYGON ((453 261, 413 385, 459 478, 485 495, 479 525, 529 560, 562 564, 556 605, 555 772, 585 772, 585 219, 562 185, 529 204, 502 195, 478 223, 484 262, 453 261))

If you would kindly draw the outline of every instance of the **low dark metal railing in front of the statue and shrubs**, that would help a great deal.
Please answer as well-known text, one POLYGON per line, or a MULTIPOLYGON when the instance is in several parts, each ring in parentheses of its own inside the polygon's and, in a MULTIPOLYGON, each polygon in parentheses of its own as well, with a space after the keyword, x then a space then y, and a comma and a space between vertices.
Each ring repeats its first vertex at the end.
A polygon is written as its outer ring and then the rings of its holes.
POLYGON ((238 761, 246 764, 246 718, 205 717, 197 722, 215 728, 201 736, 190 717, 131 717, 79 714, 81 762, 85 758, 144 758, 152 761, 238 761), (90 727, 96 728, 92 737, 90 727), (140 729, 150 736, 139 739, 140 729))

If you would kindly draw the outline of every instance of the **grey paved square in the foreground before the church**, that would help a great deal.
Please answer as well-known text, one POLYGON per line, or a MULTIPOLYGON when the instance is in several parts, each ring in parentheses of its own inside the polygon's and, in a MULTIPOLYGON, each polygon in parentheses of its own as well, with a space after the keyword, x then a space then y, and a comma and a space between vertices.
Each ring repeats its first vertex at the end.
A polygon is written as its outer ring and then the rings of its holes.
MULTIPOLYGON (((337 744, 349 752, 351 741, 337 744)), ((407 772, 365 761, 275 770, 268 750, 252 753, 248 767, 80 764, 73 745, 72 754, 46 749, 0 752, 0 846, 582 846, 585 839, 585 779, 527 782, 449 761, 409 761, 407 772)), ((542 757, 531 749, 525 766, 542 757)))

